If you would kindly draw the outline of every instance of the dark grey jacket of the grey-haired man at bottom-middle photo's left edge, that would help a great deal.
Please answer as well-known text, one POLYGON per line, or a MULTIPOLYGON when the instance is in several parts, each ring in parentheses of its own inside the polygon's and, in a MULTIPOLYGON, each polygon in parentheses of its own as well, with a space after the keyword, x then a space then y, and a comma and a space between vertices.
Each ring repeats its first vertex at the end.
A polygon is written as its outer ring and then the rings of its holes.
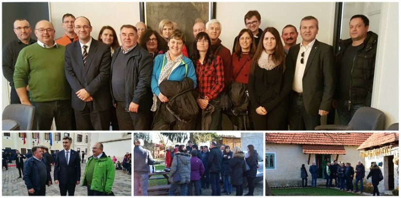
POLYGON ((141 147, 135 146, 134 148, 134 170, 137 173, 148 173, 149 165, 153 165, 155 161, 150 154, 150 151, 141 147))

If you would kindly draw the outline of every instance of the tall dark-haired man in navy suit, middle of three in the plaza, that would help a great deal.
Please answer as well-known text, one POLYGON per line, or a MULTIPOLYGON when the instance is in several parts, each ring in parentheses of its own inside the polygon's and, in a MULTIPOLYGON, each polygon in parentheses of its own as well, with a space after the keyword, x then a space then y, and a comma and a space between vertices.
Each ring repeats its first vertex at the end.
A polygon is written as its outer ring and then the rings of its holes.
POLYGON ((59 184, 61 196, 74 196, 75 185, 81 181, 81 164, 79 153, 72 150, 72 138, 63 138, 64 150, 56 154, 54 165, 54 183, 59 184))

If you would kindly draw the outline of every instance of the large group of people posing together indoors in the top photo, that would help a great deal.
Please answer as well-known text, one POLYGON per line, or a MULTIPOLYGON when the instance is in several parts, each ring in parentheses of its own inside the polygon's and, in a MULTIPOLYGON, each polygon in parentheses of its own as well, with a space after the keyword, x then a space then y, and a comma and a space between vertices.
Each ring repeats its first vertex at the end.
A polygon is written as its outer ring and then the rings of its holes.
POLYGON ((95 40, 87 17, 65 14, 61 38, 41 20, 37 41, 17 19, 3 75, 11 103, 35 106, 37 130, 50 130, 53 118, 57 130, 222 130, 222 114, 233 129, 314 130, 332 107, 347 124, 370 106, 378 35, 366 16, 351 17, 339 50, 316 40, 314 16, 300 20, 299 44, 296 26, 280 36, 261 21, 246 13, 231 53, 217 19, 197 19, 193 43, 168 19, 158 30, 104 26, 95 40))

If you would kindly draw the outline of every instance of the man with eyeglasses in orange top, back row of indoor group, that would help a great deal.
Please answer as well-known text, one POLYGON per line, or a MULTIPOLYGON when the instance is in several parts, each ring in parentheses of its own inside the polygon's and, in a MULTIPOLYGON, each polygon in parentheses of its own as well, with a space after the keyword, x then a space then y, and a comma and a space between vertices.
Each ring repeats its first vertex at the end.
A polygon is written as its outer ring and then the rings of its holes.
POLYGON ((63 15, 61 26, 64 28, 65 34, 56 40, 59 45, 66 46, 78 40, 77 34, 74 32, 75 16, 70 13, 63 15))

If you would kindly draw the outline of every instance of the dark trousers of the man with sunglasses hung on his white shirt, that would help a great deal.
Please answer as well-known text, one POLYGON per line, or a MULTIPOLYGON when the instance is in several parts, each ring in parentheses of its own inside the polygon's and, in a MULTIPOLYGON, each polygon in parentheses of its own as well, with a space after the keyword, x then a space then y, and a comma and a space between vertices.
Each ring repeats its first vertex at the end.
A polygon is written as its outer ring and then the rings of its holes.
MULTIPOLYGON (((317 114, 318 112, 316 112, 317 114)), ((305 109, 303 97, 292 92, 290 97, 290 110, 288 114, 290 131, 313 131, 320 125, 320 115, 308 115, 305 109)))

